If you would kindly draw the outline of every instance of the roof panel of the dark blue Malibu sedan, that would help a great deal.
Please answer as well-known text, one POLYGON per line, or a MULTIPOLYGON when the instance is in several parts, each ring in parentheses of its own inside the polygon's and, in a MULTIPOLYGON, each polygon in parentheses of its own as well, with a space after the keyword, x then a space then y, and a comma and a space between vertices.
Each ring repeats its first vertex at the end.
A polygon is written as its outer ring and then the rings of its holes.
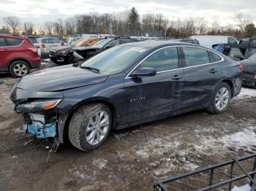
POLYGON ((191 43, 187 43, 187 42, 175 42, 175 41, 170 41, 170 40, 131 42, 131 43, 127 43, 127 44, 122 44, 121 46, 156 48, 156 47, 167 47, 167 46, 178 46, 178 45, 187 45, 187 46, 200 47, 197 44, 191 44, 191 43))

